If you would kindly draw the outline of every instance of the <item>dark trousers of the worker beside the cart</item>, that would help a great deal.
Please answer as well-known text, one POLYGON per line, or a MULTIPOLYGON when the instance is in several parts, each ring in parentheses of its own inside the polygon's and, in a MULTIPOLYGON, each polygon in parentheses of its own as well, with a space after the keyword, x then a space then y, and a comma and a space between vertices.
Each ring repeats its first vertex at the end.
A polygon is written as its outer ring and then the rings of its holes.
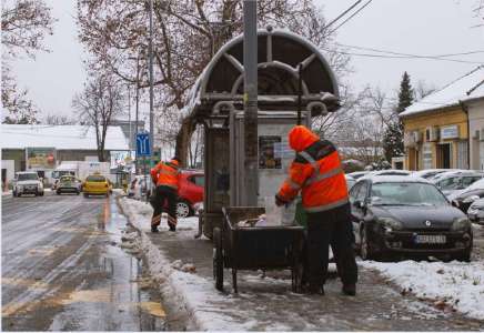
POLYGON ((307 213, 307 282, 322 286, 326 280, 330 245, 343 284, 357 280, 353 251, 350 204, 319 213, 307 213))

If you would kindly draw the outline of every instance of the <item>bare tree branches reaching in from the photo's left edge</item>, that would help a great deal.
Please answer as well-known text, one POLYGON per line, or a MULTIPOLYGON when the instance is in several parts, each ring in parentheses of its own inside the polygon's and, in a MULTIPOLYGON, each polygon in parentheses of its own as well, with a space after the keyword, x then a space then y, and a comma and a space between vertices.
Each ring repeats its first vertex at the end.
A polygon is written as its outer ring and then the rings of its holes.
POLYGON ((11 74, 12 59, 27 54, 34 58, 36 52, 47 51, 43 39, 52 34, 50 8, 42 0, 2 1, 2 89, 1 98, 9 115, 4 120, 12 123, 34 123, 38 109, 28 98, 28 91, 19 89, 11 74))

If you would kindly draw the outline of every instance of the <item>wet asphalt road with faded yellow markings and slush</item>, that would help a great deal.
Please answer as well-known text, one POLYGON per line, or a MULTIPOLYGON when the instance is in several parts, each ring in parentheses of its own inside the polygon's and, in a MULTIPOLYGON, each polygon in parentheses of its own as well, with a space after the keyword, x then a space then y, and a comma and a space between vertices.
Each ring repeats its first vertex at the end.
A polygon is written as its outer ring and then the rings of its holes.
POLYGON ((162 331, 113 198, 2 196, 3 331, 162 331))

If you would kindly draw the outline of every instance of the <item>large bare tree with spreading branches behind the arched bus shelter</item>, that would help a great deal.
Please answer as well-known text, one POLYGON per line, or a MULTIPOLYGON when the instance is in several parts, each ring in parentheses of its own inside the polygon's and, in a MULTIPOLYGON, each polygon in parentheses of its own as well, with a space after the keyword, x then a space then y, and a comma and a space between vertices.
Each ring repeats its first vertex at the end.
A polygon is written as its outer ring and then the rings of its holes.
MULTIPOLYGON (((184 0, 154 3, 154 84, 158 119, 167 110, 178 112, 190 88, 212 56, 242 32, 242 0, 184 0)), ((324 19, 311 0, 259 1, 259 26, 284 27, 303 34, 317 47, 330 48, 324 19)), ((128 82, 137 82, 135 67, 128 61, 148 46, 148 10, 144 0, 78 0, 79 38, 97 59, 95 67, 107 68, 128 82)), ((347 68, 349 57, 331 56, 336 72, 347 68)), ((147 82, 140 87, 147 87, 147 82)), ((185 162, 191 119, 170 124, 180 129, 177 153, 185 162)))

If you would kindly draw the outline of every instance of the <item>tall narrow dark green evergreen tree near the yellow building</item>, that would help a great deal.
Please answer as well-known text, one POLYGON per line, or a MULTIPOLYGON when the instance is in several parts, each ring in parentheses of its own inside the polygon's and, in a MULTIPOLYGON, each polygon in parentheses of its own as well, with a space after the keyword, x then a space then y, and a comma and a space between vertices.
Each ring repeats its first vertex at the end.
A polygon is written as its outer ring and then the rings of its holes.
POLYGON ((385 158, 391 161, 392 158, 401 157, 404 153, 403 149, 403 123, 399 118, 407 107, 413 103, 414 92, 410 83, 410 75, 407 72, 403 73, 402 82, 400 83, 399 91, 399 104, 394 110, 395 118, 389 124, 383 138, 383 149, 385 151, 385 158))

